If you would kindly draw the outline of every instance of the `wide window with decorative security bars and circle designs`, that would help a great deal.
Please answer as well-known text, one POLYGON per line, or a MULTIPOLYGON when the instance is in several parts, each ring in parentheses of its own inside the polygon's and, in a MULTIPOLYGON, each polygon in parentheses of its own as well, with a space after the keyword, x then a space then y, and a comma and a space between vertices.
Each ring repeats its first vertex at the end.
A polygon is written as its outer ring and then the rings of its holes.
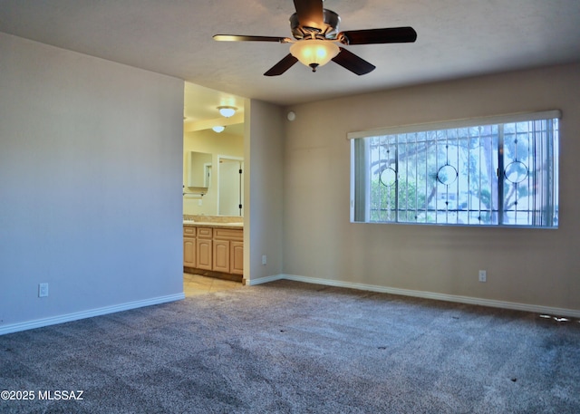
POLYGON ((351 220, 557 227, 559 111, 349 134, 351 220))

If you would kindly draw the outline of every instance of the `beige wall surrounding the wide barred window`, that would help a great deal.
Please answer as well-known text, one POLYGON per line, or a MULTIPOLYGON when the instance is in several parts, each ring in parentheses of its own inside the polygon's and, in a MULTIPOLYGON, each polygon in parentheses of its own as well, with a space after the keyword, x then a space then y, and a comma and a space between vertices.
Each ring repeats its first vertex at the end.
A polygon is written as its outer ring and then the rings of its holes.
POLYGON ((567 65, 287 108, 284 274, 580 310, 578 85, 580 65, 567 65), (552 109, 563 112, 557 230, 349 222, 348 132, 552 109))

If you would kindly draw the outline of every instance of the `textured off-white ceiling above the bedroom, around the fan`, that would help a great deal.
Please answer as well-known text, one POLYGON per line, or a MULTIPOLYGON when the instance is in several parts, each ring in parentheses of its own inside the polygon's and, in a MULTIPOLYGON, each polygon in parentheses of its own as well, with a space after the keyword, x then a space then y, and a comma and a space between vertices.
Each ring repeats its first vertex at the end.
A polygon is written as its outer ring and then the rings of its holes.
POLYGON ((266 77, 288 44, 212 35, 289 36, 291 0, 0 0, 0 31, 283 105, 580 62, 579 0, 326 0, 324 7, 341 15, 342 30, 411 25, 417 42, 348 46, 377 66, 363 76, 329 63, 316 73, 295 64, 266 77))

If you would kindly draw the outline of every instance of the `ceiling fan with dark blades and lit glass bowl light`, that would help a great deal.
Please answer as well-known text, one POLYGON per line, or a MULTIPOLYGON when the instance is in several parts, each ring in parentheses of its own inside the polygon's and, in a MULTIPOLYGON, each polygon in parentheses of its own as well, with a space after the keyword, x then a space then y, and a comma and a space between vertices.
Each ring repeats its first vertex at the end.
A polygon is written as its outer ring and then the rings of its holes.
POLYGON ((216 34, 213 38, 220 42, 292 43, 290 53, 264 73, 266 76, 281 75, 298 61, 316 72, 316 68, 331 60, 357 75, 363 75, 372 72, 375 66, 336 43, 411 43, 417 39, 415 30, 408 26, 339 32, 340 16, 323 8, 323 1, 294 0, 296 13, 290 16, 290 28, 295 40, 289 37, 239 34, 216 34))

